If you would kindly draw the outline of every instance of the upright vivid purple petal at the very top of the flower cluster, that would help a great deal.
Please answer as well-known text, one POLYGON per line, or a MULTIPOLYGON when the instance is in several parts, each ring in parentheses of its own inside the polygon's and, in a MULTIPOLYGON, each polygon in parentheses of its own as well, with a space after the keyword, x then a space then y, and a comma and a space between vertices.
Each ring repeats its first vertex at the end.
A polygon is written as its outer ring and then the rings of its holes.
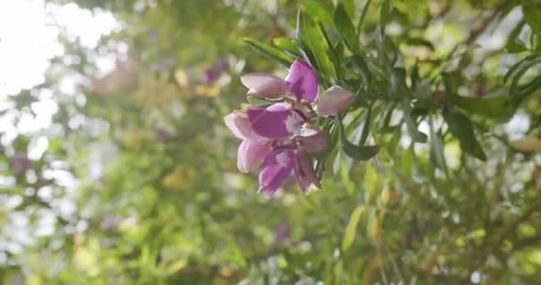
POLYGON ((296 60, 286 77, 287 91, 295 94, 297 100, 316 101, 318 96, 318 77, 306 61, 296 60))

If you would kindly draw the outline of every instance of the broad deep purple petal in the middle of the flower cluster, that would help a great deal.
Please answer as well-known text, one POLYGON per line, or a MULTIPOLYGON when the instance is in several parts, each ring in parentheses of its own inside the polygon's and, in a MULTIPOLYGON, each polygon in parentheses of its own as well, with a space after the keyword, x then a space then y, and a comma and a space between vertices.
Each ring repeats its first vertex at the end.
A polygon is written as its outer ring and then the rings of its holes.
POLYGON ((286 103, 275 103, 258 115, 248 113, 255 134, 271 139, 285 138, 297 132, 303 126, 303 119, 286 103))

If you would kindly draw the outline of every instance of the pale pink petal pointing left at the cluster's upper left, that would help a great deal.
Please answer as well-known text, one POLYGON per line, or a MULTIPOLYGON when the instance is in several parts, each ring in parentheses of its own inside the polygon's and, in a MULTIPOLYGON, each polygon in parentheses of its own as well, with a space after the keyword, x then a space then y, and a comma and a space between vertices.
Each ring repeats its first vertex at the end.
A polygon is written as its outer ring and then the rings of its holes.
POLYGON ((250 90, 249 95, 267 99, 278 99, 286 94, 286 81, 266 73, 248 73, 240 81, 250 90))

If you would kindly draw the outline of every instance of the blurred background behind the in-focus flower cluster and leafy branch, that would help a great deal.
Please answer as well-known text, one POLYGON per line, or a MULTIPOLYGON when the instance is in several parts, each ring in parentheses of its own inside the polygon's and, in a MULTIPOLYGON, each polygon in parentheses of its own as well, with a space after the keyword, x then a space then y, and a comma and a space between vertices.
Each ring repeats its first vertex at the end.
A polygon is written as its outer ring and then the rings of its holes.
MULTIPOLYGON (((487 162, 446 145, 452 179, 400 127, 374 161, 330 161, 310 196, 290 181, 264 197, 238 173, 222 123, 246 101, 238 76, 287 73, 240 38, 293 37, 299 7, 321 2, 0 1, 0 281, 541 280, 538 93, 510 120, 480 123, 487 162)), ((343 3, 353 18, 369 4, 365 27, 377 25, 381 1, 343 3)), ((460 90, 474 97, 541 28, 519 1, 392 4, 386 32, 406 63, 458 48, 460 90)))

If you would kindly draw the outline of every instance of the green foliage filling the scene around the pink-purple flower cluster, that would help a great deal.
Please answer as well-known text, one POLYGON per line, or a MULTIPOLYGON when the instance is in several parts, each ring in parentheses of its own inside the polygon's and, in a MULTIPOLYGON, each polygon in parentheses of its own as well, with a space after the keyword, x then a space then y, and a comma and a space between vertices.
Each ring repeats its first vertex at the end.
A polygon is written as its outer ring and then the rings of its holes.
POLYGON ((36 238, 0 249, 5 284, 541 279, 534 1, 76 2, 113 12, 123 28, 95 51, 59 38, 66 53, 45 83, 0 114, 34 116, 28 106, 43 92, 59 108, 56 131, 2 145, 0 194, 18 202, 0 207, 0 224, 28 216, 36 238), (501 29, 503 45, 477 44, 501 29), (117 68, 97 77, 92 52, 115 54, 117 68), (80 61, 65 64, 72 55, 80 61), (285 74, 297 56, 357 102, 328 126, 323 189, 304 196, 291 181, 266 198, 238 173, 222 117, 246 102, 239 74, 285 74), (62 94, 62 77, 85 78, 77 96, 62 94), (518 139, 507 131, 517 116, 527 121, 518 139), (47 150, 28 159, 40 137, 47 150), (354 161, 367 155, 359 142, 377 155, 354 161), (71 191, 66 176, 77 180, 71 191), (39 235, 44 213, 54 231, 39 235))

